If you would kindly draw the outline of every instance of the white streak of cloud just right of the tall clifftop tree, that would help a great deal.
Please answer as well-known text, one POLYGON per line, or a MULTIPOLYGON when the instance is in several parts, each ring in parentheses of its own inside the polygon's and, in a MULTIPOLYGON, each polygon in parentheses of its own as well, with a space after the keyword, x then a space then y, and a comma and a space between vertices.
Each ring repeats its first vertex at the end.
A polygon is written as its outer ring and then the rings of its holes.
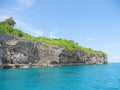
POLYGON ((30 25, 28 25, 25 22, 21 22, 18 20, 15 20, 15 21, 17 23, 16 27, 22 29, 25 33, 28 33, 32 36, 42 36, 43 35, 43 33, 39 29, 31 27, 30 25))

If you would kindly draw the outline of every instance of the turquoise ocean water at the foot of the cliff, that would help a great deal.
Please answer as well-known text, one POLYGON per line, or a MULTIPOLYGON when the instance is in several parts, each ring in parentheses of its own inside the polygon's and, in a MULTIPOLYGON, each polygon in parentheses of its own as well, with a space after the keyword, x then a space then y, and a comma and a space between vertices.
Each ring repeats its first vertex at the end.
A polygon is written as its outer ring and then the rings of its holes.
POLYGON ((0 90, 120 90, 120 63, 0 70, 0 90))

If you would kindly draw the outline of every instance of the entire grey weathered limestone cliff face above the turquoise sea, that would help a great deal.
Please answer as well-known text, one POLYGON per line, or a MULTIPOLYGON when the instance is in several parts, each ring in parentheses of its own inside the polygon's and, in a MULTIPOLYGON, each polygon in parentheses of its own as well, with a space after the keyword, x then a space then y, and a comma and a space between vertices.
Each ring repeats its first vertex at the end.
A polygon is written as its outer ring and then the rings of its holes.
POLYGON ((57 45, 30 41, 0 33, 0 68, 106 64, 107 56, 68 51, 57 45))

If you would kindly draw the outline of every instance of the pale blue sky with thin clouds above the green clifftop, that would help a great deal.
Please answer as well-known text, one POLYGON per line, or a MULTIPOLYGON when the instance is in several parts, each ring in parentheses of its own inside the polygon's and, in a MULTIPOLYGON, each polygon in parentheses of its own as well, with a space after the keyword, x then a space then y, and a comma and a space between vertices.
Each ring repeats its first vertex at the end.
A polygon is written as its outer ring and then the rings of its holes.
POLYGON ((34 35, 74 40, 120 62, 120 0, 0 0, 0 21, 34 35))

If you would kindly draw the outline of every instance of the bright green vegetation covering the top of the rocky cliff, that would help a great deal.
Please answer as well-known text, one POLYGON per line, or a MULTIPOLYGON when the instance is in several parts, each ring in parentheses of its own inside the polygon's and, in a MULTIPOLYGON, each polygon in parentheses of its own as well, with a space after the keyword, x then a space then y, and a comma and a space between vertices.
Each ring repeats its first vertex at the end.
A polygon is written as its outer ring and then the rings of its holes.
POLYGON ((59 45, 61 47, 64 47, 67 50, 82 50, 86 53, 93 53, 97 54, 99 56, 106 55, 102 51, 95 51, 91 48, 85 48, 82 46, 79 46, 76 42, 72 40, 66 40, 66 39, 51 39, 47 37, 34 37, 31 36, 27 33, 22 32, 19 29, 14 28, 15 21, 13 18, 8 18, 5 21, 0 22, 0 33, 5 33, 8 35, 16 36, 16 37, 22 37, 25 39, 29 39, 32 41, 39 41, 39 42, 44 42, 46 44, 53 44, 53 45, 59 45))

